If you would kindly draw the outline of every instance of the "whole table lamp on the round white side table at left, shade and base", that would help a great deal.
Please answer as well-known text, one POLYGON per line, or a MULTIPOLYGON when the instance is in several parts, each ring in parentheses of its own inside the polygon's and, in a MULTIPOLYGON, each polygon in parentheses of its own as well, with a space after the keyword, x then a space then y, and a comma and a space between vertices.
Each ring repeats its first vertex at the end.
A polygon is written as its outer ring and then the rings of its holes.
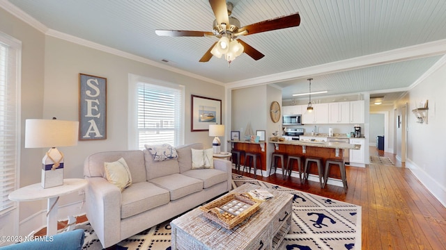
POLYGON ((25 148, 50 149, 42 159, 42 188, 63 185, 63 153, 56 147, 77 145, 79 122, 26 119, 25 148))

